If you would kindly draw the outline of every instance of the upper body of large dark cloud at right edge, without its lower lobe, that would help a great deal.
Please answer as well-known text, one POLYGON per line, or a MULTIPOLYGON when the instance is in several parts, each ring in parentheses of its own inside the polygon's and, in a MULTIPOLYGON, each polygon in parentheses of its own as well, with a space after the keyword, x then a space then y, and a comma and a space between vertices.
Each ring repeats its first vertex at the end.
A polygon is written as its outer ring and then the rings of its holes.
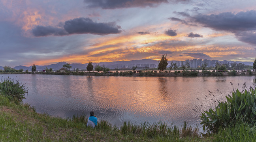
POLYGON ((214 30, 224 30, 230 32, 252 30, 256 28, 256 11, 250 10, 239 12, 237 14, 224 12, 218 15, 197 15, 193 19, 205 27, 213 28, 214 30))

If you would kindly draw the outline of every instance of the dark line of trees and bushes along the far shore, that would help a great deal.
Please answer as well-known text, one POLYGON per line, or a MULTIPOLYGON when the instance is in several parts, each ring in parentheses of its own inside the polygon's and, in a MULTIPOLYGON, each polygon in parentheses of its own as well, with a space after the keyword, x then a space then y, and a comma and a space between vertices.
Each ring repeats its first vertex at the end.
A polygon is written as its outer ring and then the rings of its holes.
MULTIPOLYGON (((167 54, 166 54, 167 56, 167 54)), ((162 55, 160 62, 158 62, 158 67, 148 71, 149 67, 145 67, 143 70, 137 71, 137 66, 132 67, 132 71, 120 71, 121 69, 118 66, 114 70, 110 70, 108 67, 103 65, 92 65, 92 62, 89 62, 85 70, 79 70, 74 68, 73 71, 70 71, 72 66, 70 64, 64 64, 63 67, 57 71, 53 71, 52 68, 45 68, 42 71, 36 70, 36 65, 33 64, 31 72, 28 70, 24 71, 23 69, 13 69, 11 67, 5 66, 4 70, 0 69, 0 74, 47 74, 47 75, 102 75, 102 76, 235 76, 235 75, 256 75, 256 58, 252 66, 244 64, 215 64, 214 67, 207 67, 207 63, 204 62, 200 67, 190 68, 190 63, 178 67, 176 63, 171 62, 167 68, 168 59, 166 56, 162 55), (94 71, 93 71, 94 70, 94 71), (173 72, 173 71, 174 72, 173 72), (201 70, 201 72, 200 72, 201 70), (251 71, 252 70, 252 71, 251 71), (92 72, 91 72, 92 71, 92 72), (96 72, 95 72, 96 71, 96 72), (239 72, 241 71, 241 72, 239 72)))

